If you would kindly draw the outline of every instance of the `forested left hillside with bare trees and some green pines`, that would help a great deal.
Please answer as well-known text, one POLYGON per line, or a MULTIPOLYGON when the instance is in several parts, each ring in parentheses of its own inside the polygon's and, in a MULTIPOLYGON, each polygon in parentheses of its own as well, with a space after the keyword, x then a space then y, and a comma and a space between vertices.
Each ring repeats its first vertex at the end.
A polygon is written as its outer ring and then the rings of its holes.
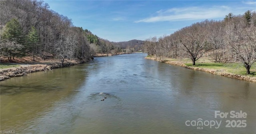
MULTIPOLYGON (((89 60, 96 53, 123 51, 88 29, 75 27, 41 0, 0 1, 0 54, 12 60, 22 56, 89 60)), ((125 49, 125 48, 123 48, 125 49)))

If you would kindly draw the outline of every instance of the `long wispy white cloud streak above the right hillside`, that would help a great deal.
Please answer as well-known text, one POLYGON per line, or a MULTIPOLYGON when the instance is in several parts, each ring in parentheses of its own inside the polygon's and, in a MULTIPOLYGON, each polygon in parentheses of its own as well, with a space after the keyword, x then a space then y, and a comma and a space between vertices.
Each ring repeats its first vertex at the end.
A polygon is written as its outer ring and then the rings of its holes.
POLYGON ((171 8, 168 10, 159 10, 156 16, 148 17, 135 21, 139 22, 158 22, 158 21, 184 21, 197 19, 214 19, 223 17, 225 13, 230 12, 228 6, 212 6, 211 8, 188 7, 171 8))

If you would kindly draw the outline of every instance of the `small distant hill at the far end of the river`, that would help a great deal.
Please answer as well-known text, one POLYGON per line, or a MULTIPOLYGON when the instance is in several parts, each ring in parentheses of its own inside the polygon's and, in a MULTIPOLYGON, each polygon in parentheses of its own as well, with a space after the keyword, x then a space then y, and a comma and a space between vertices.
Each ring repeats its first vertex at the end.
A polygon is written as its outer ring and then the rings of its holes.
POLYGON ((112 42, 112 44, 120 46, 122 49, 134 48, 134 50, 142 49, 143 43, 144 41, 136 40, 136 39, 133 39, 130 41, 112 42))

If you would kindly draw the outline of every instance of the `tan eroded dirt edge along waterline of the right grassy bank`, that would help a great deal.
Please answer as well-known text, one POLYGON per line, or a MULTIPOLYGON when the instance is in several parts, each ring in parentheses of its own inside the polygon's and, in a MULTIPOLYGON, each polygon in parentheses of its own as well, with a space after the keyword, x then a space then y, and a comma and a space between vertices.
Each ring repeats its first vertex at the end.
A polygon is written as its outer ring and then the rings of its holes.
MULTIPOLYGON (((156 59, 155 57, 146 57, 146 59, 160 61, 159 59, 156 59)), ((256 82, 256 77, 250 77, 250 76, 240 75, 240 74, 233 74, 233 73, 227 72, 226 70, 216 70, 216 69, 209 69, 209 68, 198 68, 198 67, 186 66, 185 64, 183 64, 183 62, 180 62, 180 61, 168 60, 165 63, 176 65, 176 66, 183 66, 184 68, 188 68, 188 69, 192 69, 192 70, 209 72, 211 74, 218 74, 218 75, 226 76, 226 77, 230 77, 230 78, 236 78, 236 79, 240 79, 240 80, 256 82)))

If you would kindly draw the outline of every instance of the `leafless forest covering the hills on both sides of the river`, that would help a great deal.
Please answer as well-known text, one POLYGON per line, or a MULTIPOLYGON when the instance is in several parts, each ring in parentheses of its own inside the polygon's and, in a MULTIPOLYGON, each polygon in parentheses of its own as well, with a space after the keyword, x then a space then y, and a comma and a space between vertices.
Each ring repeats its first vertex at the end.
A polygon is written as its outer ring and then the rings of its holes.
POLYGON ((89 60, 96 53, 116 54, 147 50, 162 62, 165 57, 188 57, 195 65, 202 56, 215 62, 240 61, 250 74, 256 62, 256 12, 223 15, 221 21, 205 20, 184 27, 169 36, 146 41, 114 43, 88 29, 75 27, 72 20, 50 10, 41 0, 0 1, 0 55, 12 60, 19 56, 49 56, 89 60))

